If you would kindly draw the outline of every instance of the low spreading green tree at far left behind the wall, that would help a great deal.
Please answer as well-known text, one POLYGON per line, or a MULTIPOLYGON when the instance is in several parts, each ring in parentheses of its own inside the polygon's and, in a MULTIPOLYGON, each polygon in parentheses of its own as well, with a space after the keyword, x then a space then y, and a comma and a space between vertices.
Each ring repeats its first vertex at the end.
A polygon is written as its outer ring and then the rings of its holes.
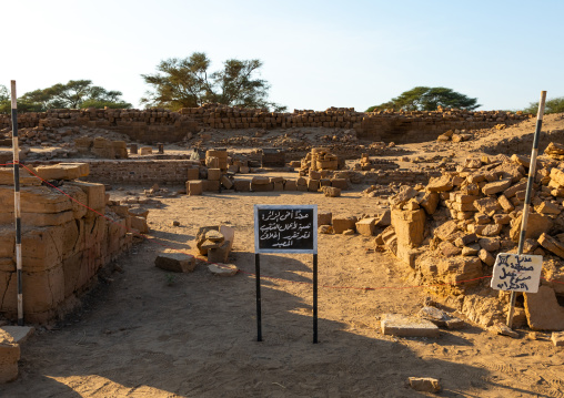
MULTIPOLYGON (((9 112, 9 96, 6 86, 0 86, 0 112, 9 112)), ((24 93, 18 99, 18 110, 23 112, 42 112, 49 109, 80 109, 104 106, 128 109, 131 104, 121 99, 120 91, 108 91, 102 86, 93 85, 91 80, 70 80, 68 83, 58 83, 47 89, 38 89, 24 93)))

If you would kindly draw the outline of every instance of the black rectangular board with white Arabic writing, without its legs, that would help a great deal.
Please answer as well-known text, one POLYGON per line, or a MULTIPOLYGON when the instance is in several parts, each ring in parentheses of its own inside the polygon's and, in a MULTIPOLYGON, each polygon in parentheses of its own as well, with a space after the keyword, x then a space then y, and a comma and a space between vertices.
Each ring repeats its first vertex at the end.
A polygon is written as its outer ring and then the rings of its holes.
POLYGON ((254 253, 318 253, 316 205, 254 205, 254 253))

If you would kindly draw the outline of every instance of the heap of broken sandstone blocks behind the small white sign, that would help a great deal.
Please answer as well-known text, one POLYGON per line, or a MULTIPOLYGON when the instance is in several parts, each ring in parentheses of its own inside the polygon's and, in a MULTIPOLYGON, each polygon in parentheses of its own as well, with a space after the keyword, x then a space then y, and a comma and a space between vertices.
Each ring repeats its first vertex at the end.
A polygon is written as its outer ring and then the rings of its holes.
MULTIPOLYGON (((445 284, 431 290, 471 320, 483 326, 503 320, 507 295, 487 287, 487 276, 498 253, 516 253, 528 166, 530 160, 518 155, 503 162, 467 159, 426 186, 403 186, 390 197, 392 225, 376 236, 376 246, 407 264, 417 283, 445 284)), ((524 253, 544 256, 544 304, 525 293, 516 325, 564 328, 557 302, 564 295, 563 198, 564 164, 538 160, 524 253)))

